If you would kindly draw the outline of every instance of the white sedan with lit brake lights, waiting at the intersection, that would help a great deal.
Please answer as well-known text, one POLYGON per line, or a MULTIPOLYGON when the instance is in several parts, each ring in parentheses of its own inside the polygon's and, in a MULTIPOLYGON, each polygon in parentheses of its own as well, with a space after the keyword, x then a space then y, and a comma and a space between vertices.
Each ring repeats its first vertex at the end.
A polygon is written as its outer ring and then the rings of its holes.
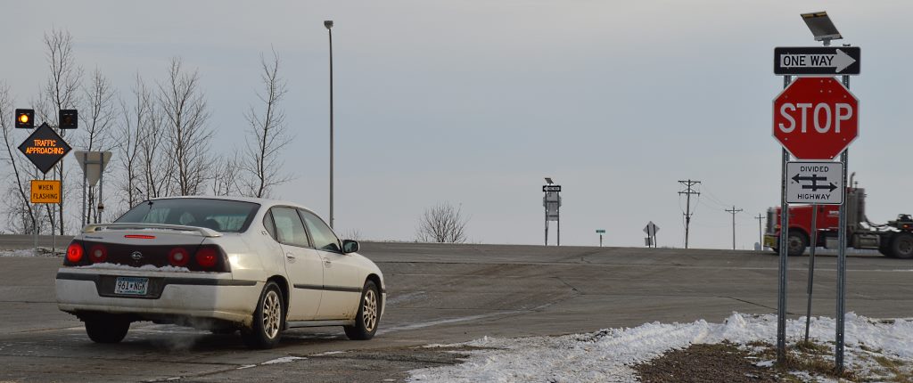
POLYGON ((255 348, 299 326, 342 326, 351 339, 370 339, 385 286, 358 250, 291 202, 153 199, 73 239, 57 274, 58 307, 99 343, 120 342, 144 320, 240 330, 255 348))

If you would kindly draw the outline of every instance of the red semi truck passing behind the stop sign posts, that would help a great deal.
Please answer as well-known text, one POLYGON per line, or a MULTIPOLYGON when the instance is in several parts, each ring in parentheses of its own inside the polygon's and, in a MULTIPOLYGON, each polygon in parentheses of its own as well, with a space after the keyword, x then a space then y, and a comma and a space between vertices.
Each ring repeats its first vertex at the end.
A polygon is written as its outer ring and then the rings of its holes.
MULTIPOLYGON (((854 174, 855 175, 855 174, 854 174)), ((853 185, 853 178, 850 178, 853 185)), ((846 188, 846 246, 878 250, 891 258, 913 258, 913 217, 897 214, 897 220, 886 224, 871 223, 866 218, 866 190, 846 188)), ((780 207, 767 210, 764 246, 774 252, 780 249, 780 207)), ((787 229, 787 254, 799 256, 809 245, 835 249, 838 245, 839 205, 790 205, 787 229), (815 243, 812 241, 812 214, 817 214, 815 243)))

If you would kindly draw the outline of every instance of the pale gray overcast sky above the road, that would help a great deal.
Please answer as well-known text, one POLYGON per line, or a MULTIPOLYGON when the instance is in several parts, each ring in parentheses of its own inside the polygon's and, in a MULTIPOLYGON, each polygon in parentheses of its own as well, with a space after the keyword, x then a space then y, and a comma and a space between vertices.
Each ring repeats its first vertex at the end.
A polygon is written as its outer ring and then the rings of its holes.
MULTIPOLYGON (((259 55, 275 47, 297 138, 278 189, 325 218, 327 31, 335 21, 336 226, 412 240, 423 210, 461 205, 470 242, 541 243, 544 176, 563 186, 561 243, 682 246, 678 180, 703 183, 692 247, 758 241, 752 219, 779 202, 771 137, 774 47, 817 46, 799 14, 826 10, 862 47, 860 138, 850 171, 877 223, 913 212, 904 1, 3 1, 2 78, 20 107, 47 79, 42 36, 75 39, 79 65, 122 94, 170 57, 199 69, 214 150, 241 145, 259 55)), ((4 116, 8 118, 8 116, 4 116)), ((24 137, 23 137, 24 139, 24 137)), ((553 228, 554 226, 552 226, 553 228)), ((554 243, 554 233, 551 243, 554 243)))

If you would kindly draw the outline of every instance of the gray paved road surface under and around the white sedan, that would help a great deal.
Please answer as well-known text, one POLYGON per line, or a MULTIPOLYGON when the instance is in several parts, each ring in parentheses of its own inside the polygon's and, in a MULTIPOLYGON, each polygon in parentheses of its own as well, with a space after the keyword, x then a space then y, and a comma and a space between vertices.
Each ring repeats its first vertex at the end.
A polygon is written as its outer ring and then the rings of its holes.
MULTIPOLYGON (((777 257, 768 253, 422 243, 362 249, 388 283, 379 335, 354 342, 341 328, 296 329, 265 351, 245 349, 237 336, 145 323, 119 345, 93 344, 78 320, 57 310, 59 259, 0 257, 0 382, 399 381, 409 369, 455 362, 453 354, 416 348, 422 345, 654 320, 719 322, 732 311, 774 313, 777 304, 777 257), (264 364, 279 357, 304 359, 264 364)), ((804 313, 807 261, 790 260, 793 316, 804 313)), ((834 316, 835 259, 817 264, 813 315, 834 316)), ((913 316, 913 261, 853 257, 848 269, 849 310, 913 316)))

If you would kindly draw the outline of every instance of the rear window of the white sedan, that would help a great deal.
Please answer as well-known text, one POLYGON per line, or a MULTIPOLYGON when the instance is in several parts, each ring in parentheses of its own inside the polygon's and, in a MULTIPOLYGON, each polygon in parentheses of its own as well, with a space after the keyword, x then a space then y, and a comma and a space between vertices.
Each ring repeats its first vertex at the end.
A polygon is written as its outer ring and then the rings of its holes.
POLYGON ((152 200, 136 205, 115 223, 178 224, 240 233, 247 230, 259 207, 254 202, 203 198, 152 200))

